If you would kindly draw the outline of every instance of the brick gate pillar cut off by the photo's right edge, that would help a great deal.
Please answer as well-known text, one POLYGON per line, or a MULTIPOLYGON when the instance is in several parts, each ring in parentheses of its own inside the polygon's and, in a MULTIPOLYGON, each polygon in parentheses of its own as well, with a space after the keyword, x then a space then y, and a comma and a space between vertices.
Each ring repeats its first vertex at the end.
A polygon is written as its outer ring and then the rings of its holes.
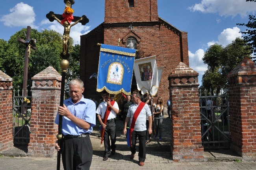
POLYGON ((256 160, 256 64, 245 57, 227 78, 230 149, 256 160))

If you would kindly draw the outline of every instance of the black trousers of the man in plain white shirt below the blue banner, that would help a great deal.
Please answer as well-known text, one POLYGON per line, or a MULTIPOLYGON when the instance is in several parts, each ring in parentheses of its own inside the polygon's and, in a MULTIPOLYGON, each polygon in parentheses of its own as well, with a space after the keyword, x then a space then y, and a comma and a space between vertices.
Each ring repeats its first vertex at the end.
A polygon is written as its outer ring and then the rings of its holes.
POLYGON ((117 147, 115 145, 116 141, 116 134, 115 134, 115 120, 111 119, 108 120, 106 123, 105 131, 104 131, 104 147, 105 147, 105 156, 109 157, 110 156, 110 149, 115 150, 117 147), (111 145, 110 145, 110 140, 111 140, 111 145))

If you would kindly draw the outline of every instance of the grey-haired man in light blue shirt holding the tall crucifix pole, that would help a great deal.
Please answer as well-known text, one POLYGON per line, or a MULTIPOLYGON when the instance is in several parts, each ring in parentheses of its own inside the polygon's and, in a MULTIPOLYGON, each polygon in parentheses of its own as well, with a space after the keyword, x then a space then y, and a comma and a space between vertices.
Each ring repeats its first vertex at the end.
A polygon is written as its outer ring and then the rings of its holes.
POLYGON ((96 124, 96 105, 92 100, 83 98, 84 87, 80 79, 69 82, 70 98, 64 100, 63 107, 59 106, 55 123, 62 118, 62 133, 64 135, 61 146, 57 141, 55 149, 62 154, 64 170, 89 170, 93 158, 93 148, 89 134, 96 124))

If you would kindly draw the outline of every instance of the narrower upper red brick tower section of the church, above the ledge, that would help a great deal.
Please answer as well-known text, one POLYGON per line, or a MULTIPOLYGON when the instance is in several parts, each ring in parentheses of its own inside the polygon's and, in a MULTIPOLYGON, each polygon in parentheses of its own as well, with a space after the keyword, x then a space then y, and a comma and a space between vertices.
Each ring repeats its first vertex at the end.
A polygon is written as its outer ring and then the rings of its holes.
POLYGON ((145 21, 158 21, 157 0, 134 0, 134 7, 128 0, 105 1, 105 23, 145 21))

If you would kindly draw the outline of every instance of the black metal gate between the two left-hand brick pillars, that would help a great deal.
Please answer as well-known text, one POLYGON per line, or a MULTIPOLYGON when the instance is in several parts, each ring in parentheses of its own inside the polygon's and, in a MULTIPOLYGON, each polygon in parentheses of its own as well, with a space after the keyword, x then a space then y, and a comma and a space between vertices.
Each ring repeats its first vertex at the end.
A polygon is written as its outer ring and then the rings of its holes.
MULTIPOLYGON (((30 141, 31 96, 13 91, 13 143, 28 144, 30 141), (15 96, 15 92, 16 95, 15 96)), ((28 93, 27 93, 28 94, 28 93)))

